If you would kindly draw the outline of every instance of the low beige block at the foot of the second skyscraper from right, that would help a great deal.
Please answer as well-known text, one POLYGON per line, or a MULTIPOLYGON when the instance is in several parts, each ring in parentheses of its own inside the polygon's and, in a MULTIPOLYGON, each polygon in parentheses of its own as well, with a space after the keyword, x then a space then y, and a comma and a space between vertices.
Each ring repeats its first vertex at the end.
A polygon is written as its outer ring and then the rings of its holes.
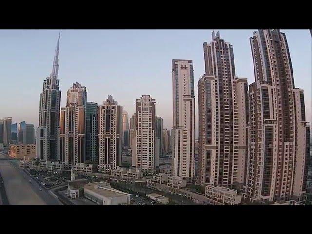
POLYGON ((237 190, 220 185, 207 185, 205 196, 213 205, 236 205, 242 201, 242 196, 237 194, 237 190))

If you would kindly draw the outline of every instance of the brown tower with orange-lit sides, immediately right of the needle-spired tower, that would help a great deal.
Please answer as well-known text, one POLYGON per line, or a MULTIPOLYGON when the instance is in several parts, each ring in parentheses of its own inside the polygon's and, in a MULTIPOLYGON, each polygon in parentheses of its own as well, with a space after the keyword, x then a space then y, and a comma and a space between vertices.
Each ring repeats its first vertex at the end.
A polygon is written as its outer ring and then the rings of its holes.
POLYGON ((61 108, 61 161, 68 165, 85 162, 87 90, 78 82, 67 91, 66 107, 61 108))

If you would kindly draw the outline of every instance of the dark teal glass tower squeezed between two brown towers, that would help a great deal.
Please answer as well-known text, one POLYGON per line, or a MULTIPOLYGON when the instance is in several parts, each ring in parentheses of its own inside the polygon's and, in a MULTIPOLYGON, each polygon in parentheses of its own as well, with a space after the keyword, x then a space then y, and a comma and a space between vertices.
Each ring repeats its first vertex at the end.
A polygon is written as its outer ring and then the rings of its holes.
POLYGON ((86 110, 86 161, 98 162, 98 103, 87 102, 86 110))

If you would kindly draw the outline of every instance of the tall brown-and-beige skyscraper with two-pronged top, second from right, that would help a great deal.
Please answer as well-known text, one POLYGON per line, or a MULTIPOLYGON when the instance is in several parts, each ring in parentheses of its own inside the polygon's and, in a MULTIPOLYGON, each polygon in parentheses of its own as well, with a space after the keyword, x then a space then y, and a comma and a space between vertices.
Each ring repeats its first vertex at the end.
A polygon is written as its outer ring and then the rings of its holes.
POLYGON ((212 33, 198 81, 198 182, 243 188, 246 178, 248 85, 236 77, 232 45, 212 33))

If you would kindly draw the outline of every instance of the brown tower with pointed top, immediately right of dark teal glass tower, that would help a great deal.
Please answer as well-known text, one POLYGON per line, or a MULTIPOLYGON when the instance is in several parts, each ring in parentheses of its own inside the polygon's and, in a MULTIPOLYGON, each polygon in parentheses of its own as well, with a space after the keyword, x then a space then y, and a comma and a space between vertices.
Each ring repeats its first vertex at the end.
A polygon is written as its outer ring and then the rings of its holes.
POLYGON ((111 95, 98 107, 98 171, 107 173, 121 166, 122 106, 111 95))

